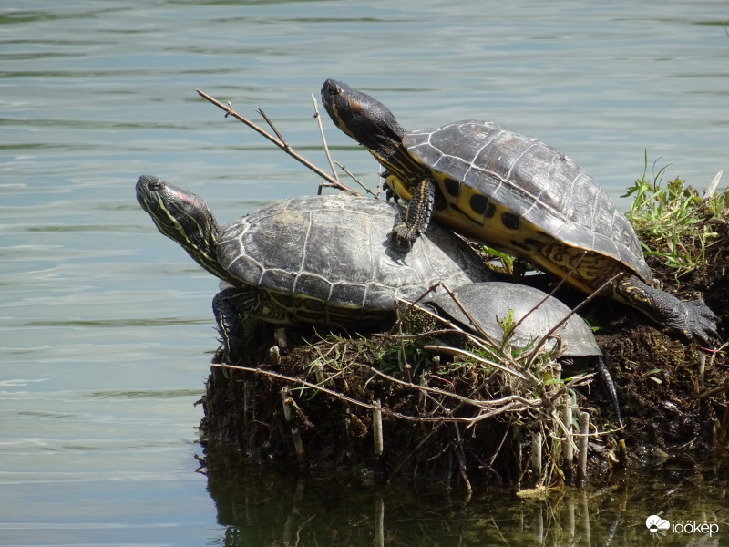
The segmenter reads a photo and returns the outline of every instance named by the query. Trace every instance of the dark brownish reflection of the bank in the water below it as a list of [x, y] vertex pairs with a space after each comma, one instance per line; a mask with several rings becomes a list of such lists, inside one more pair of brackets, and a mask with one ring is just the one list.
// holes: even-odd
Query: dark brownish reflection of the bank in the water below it
[[[465, 492], [436, 484], [385, 487], [334, 471], [248, 465], [239, 452], [225, 449], [206, 450], [205, 472], [230, 546], [629, 545], [652, 539], [645, 520], [658, 511], [669, 521], [726, 522], [723, 490], [696, 487], [714, 475], [714, 485], [724, 489], [727, 469], [719, 480], [716, 468], [692, 473], [686, 463], [662, 466], [658, 480], [632, 477], [600, 490], [552, 490], [545, 499], [489, 489], [468, 500]], [[685, 495], [688, 488], [676, 495], [678, 482], [669, 483], [681, 475], [684, 487], [693, 484], [693, 497]], [[662, 544], [707, 539], [668, 532]]]

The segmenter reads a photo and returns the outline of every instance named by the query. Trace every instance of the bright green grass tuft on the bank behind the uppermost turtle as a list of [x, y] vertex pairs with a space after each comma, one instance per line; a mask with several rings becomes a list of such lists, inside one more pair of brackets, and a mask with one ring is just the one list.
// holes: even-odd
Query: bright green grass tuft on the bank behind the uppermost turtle
[[[657, 173], [654, 171], [652, 181], [646, 180], [646, 152], [641, 179], [622, 197], [634, 197], [626, 214], [642, 241], [645, 254], [659, 257], [663, 264], [675, 269], [678, 278], [706, 262], [706, 245], [717, 234], [704, 222], [707, 201], [698, 191], [678, 177], [662, 182], [667, 168], [668, 165]], [[715, 201], [714, 209], [721, 209], [727, 199], [724, 192], [709, 201]]]

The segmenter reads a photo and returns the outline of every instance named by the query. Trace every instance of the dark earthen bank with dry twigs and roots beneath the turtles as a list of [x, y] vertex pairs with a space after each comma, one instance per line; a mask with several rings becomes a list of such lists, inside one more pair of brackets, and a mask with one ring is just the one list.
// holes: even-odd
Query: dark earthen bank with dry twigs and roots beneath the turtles
[[[704, 215], [701, 222], [716, 234], [702, 265], [676, 279], [659, 258], [648, 260], [664, 290], [686, 300], [703, 297], [724, 339], [729, 230], [721, 219]], [[562, 296], [568, 302], [583, 298]], [[298, 461], [309, 469], [345, 468], [383, 479], [554, 484], [571, 480], [577, 465], [565, 458], [560, 442], [562, 411], [542, 397], [565, 401], [556, 395], [561, 389], [574, 393], [572, 402], [590, 414], [592, 481], [610, 480], [621, 466], [679, 453], [698, 457], [726, 446], [729, 374], [723, 353], [685, 344], [612, 301], [596, 299], [584, 313], [599, 326], [597, 339], [621, 401], [621, 430], [615, 430], [600, 385], [551, 382], [560, 370], [549, 358], [530, 365], [544, 382], [541, 393], [467, 356], [427, 351], [427, 340], [289, 330], [288, 349], [276, 355], [269, 353], [272, 327], [252, 325], [256, 344], [240, 364], [247, 370], [211, 368], [202, 401], [203, 444], [240, 449], [255, 462]], [[535, 443], [539, 466], [532, 463]]]

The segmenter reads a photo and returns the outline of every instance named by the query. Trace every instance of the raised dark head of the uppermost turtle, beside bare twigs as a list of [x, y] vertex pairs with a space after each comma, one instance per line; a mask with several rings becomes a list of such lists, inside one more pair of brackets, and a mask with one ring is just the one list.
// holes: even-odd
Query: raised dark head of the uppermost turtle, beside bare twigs
[[328, 79], [322, 87], [322, 103], [334, 125], [372, 152], [386, 169], [408, 156], [403, 147], [405, 129], [377, 99]]

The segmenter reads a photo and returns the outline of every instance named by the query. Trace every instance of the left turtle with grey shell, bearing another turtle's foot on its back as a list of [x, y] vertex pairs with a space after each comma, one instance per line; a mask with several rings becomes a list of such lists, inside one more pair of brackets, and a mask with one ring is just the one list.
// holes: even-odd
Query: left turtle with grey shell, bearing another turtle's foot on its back
[[433, 284], [491, 278], [460, 237], [432, 226], [412, 249], [388, 237], [399, 208], [354, 195], [274, 201], [220, 227], [197, 195], [142, 175], [137, 201], [159, 232], [221, 279], [212, 302], [227, 362], [241, 359], [242, 318], [277, 325], [375, 325], [395, 318], [395, 297]]

